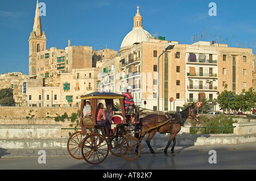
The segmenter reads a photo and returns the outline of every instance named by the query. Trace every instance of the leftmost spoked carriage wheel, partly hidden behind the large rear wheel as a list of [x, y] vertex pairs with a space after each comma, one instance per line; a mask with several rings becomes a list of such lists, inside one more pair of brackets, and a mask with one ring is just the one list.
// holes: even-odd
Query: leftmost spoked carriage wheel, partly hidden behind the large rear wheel
[[82, 140], [87, 136], [87, 134], [81, 131], [71, 134], [67, 142], [68, 153], [71, 157], [76, 159], [82, 159], [81, 145]]

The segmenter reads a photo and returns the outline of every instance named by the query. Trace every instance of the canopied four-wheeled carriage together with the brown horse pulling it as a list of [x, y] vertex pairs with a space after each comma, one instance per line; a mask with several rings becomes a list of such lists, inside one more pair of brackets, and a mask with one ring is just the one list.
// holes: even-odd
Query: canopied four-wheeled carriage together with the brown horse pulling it
[[[196, 117], [195, 108], [188, 107], [180, 112], [178, 116], [176, 114], [169, 114], [168, 116], [151, 114], [140, 120], [137, 117], [137, 123], [130, 124], [128, 121], [128, 124], [123, 99], [123, 95], [113, 92], [92, 92], [81, 96], [81, 115], [84, 115], [82, 109], [85, 101], [89, 100], [92, 117], [85, 116], [81, 124], [84, 129], [73, 133], [69, 137], [67, 148], [73, 158], [85, 159], [88, 163], [97, 164], [103, 162], [110, 152], [117, 157], [122, 156], [127, 161], [133, 161], [141, 154], [141, 140], [146, 133], [148, 133], [146, 143], [151, 153], [154, 154], [154, 150], [150, 146], [150, 140], [157, 131], [171, 133], [164, 153], [167, 153], [168, 146], [172, 140], [174, 140], [173, 152], [176, 142], [175, 136], [180, 131], [181, 122], [184, 123], [188, 116]], [[105, 124], [97, 123], [96, 121], [97, 104], [100, 101], [105, 101], [106, 105], [112, 104], [112, 108], [114, 108], [114, 100], [119, 101], [120, 115], [113, 117], [113, 129], [112, 133], [109, 133]], [[138, 133], [141, 133], [141, 135], [139, 136]]]

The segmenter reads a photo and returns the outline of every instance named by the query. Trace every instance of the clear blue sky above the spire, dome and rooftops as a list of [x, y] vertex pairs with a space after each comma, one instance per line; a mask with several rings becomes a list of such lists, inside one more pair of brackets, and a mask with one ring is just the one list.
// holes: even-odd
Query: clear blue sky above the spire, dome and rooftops
[[[154, 35], [180, 44], [193, 39], [228, 43], [229, 47], [256, 47], [255, 0], [39, 0], [46, 4], [41, 16], [47, 49], [71, 45], [119, 50], [133, 28], [137, 12], [143, 27]], [[210, 2], [217, 16], [209, 16]], [[34, 24], [36, 0], [0, 1], [0, 74], [22, 71], [28, 74], [28, 38]]]

